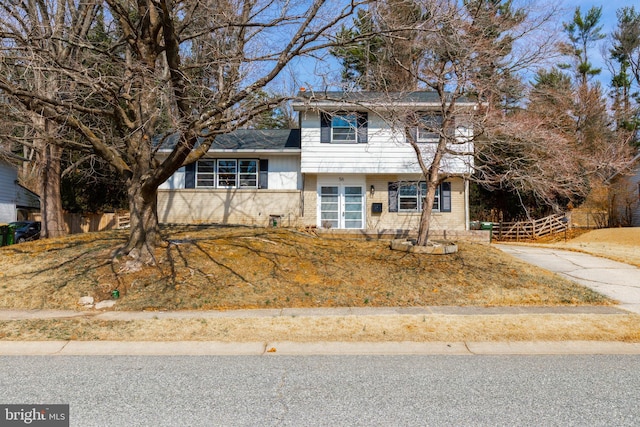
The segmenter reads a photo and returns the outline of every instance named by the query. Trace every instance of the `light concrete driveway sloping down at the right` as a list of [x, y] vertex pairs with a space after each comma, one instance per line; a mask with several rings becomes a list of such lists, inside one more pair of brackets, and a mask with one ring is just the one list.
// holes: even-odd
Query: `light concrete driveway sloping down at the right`
[[640, 314], [640, 268], [580, 252], [524, 245], [494, 245], [529, 264], [587, 286]]

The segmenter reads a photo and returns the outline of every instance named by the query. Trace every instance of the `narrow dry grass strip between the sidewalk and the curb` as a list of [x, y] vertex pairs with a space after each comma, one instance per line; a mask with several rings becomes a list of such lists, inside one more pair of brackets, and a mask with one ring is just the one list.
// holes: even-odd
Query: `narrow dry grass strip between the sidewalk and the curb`
[[25, 320], [0, 322], [0, 340], [640, 342], [640, 316], [505, 314]]

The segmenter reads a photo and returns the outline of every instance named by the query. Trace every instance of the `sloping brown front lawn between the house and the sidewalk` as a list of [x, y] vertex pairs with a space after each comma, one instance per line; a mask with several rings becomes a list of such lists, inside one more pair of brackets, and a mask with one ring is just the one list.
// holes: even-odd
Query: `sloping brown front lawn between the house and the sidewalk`
[[387, 241], [296, 230], [174, 227], [157, 266], [112, 262], [126, 231], [0, 248], [0, 308], [75, 309], [81, 296], [118, 310], [432, 305], [590, 305], [606, 298], [488, 245], [454, 255], [392, 251]]

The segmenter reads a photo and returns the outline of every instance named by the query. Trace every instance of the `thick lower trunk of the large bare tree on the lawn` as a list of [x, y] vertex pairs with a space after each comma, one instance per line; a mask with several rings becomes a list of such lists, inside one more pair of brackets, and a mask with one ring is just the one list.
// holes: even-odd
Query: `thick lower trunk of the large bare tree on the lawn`
[[124, 250], [133, 258], [154, 263], [154, 249], [162, 244], [162, 238], [158, 224], [158, 189], [148, 187], [139, 178], [131, 178], [129, 181], [131, 230]]

